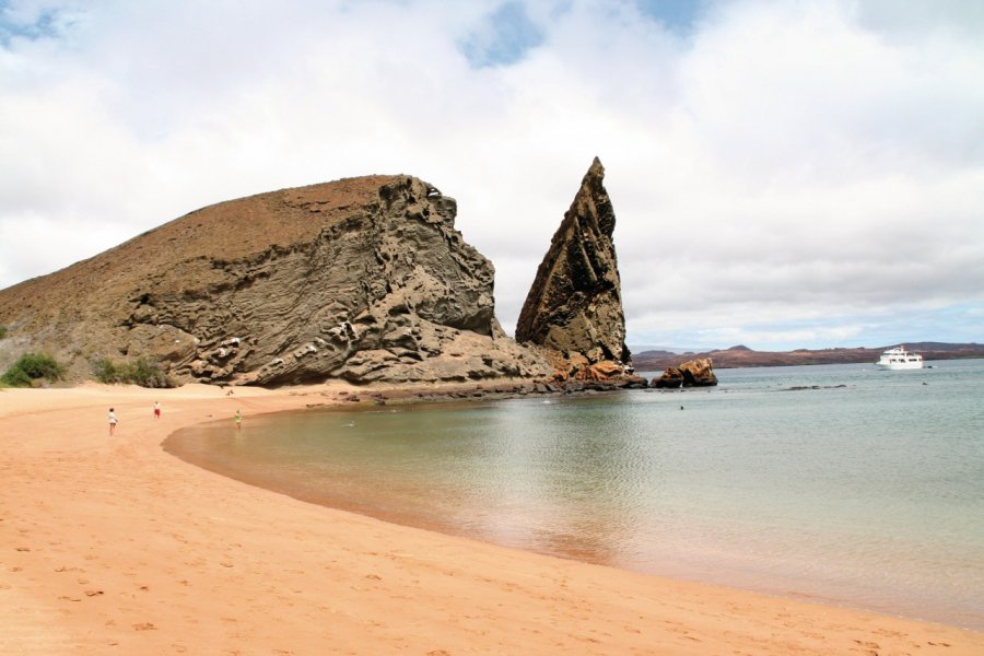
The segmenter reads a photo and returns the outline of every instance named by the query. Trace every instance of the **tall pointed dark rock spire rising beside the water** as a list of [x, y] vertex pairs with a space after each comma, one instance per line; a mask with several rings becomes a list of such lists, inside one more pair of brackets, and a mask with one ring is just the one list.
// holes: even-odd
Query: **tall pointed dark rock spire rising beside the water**
[[[516, 325], [516, 340], [588, 365], [628, 363], [625, 317], [612, 232], [614, 210], [595, 157], [553, 235]], [[582, 367], [584, 371], [584, 367]]]

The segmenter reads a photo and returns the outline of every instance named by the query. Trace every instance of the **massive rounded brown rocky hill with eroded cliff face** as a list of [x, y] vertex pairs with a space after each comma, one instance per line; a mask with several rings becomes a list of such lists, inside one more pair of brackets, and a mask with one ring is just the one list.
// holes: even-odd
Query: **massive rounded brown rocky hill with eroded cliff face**
[[78, 377], [101, 356], [180, 382], [546, 377], [500, 328], [456, 212], [409, 176], [229, 201], [0, 292], [0, 325]]

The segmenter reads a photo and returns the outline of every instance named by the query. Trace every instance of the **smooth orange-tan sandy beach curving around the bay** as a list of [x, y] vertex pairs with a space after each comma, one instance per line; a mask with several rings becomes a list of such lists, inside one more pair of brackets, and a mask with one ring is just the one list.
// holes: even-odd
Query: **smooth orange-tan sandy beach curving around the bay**
[[161, 448], [342, 388], [0, 390], [0, 653], [984, 654], [984, 633], [387, 524]]

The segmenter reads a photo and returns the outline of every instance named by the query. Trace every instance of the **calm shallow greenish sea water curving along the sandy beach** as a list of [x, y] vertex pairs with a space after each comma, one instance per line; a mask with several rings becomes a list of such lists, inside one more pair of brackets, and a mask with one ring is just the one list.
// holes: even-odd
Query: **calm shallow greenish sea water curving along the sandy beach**
[[167, 448], [405, 524], [982, 630], [984, 361], [932, 364], [311, 410], [189, 429]]

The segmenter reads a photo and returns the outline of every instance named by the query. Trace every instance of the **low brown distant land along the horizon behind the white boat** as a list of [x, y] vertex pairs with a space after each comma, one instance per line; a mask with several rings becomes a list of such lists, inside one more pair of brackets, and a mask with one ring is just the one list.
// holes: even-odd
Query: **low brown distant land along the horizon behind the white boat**
[[[878, 360], [881, 352], [893, 345], [877, 349], [797, 349], [795, 351], [752, 351], [745, 345], [700, 353], [673, 353], [670, 351], [642, 351], [632, 355], [636, 371], [654, 372], [698, 358], [710, 358], [714, 368], [741, 366], [792, 366], [797, 364], [846, 364]], [[956, 360], [984, 358], [984, 344], [951, 344], [945, 342], [905, 342], [905, 348], [919, 353], [924, 360]]]

